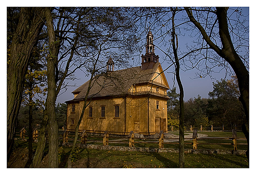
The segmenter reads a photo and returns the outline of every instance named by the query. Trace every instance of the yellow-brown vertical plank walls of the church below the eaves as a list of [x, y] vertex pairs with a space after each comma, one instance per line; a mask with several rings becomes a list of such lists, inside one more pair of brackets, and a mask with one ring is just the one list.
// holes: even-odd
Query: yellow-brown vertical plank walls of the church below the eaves
[[[167, 101], [159, 100], [159, 109], [156, 109], [157, 100], [149, 99], [149, 120], [148, 125], [148, 99], [147, 98], [127, 98], [126, 113], [125, 113], [125, 99], [106, 99], [106, 100], [92, 100], [89, 106], [93, 107], [93, 117], [89, 117], [89, 107], [86, 108], [83, 120], [79, 130], [98, 130], [109, 132], [120, 132], [128, 134], [129, 131], [137, 131], [146, 134], [148, 127], [151, 133], [159, 132], [156, 128], [156, 119], [165, 118], [167, 123]], [[67, 129], [75, 129], [77, 121], [82, 112], [84, 101], [76, 103], [75, 113], [71, 113], [71, 104], [68, 104], [68, 119]], [[115, 118], [115, 105], [119, 107], [119, 118]], [[105, 106], [105, 118], [101, 117], [101, 106]], [[71, 125], [71, 118], [74, 119], [74, 125]], [[166, 125], [167, 130], [167, 125]], [[119, 133], [119, 134], [120, 134]]]

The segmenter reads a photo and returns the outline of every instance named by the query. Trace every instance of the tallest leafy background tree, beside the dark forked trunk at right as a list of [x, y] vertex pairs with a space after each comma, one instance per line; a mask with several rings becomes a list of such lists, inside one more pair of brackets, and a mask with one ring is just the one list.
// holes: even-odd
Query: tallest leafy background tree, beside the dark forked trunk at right
[[234, 128], [241, 127], [245, 121], [243, 106], [239, 101], [240, 96], [237, 79], [221, 79], [213, 82], [213, 91], [209, 92], [208, 115], [214, 125], [225, 125]]

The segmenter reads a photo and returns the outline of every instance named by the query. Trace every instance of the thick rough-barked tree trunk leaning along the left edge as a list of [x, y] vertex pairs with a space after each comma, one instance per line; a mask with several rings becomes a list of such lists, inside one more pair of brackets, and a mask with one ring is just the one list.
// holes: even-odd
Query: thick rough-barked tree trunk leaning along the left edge
[[7, 68], [7, 160], [10, 157], [15, 124], [22, 100], [29, 58], [44, 25], [43, 8], [22, 7], [16, 34], [10, 47]]

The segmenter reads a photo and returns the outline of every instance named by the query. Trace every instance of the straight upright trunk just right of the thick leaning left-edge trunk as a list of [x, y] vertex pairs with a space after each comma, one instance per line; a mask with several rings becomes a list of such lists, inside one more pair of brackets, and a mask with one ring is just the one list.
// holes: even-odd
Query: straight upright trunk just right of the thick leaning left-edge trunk
[[58, 64], [58, 43], [55, 40], [55, 31], [51, 8], [45, 8], [46, 25], [49, 37], [49, 55], [47, 57], [47, 83], [48, 94], [46, 99], [47, 113], [49, 117], [49, 167], [58, 168], [58, 124], [55, 113], [56, 79], [55, 68]]

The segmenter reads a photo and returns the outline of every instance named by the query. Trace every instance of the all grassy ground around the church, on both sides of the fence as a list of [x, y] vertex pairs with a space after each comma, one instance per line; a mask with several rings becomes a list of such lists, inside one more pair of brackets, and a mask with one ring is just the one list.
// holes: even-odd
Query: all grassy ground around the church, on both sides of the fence
[[[198, 132], [207, 134], [209, 137], [232, 137], [232, 132]], [[186, 133], [188, 134], [188, 133]], [[237, 137], [244, 137], [242, 132], [237, 132]], [[88, 138], [89, 139], [89, 138]], [[90, 138], [94, 139], [94, 138]], [[95, 138], [97, 141], [102, 141], [102, 138]], [[128, 143], [111, 143], [110, 146], [126, 146]], [[135, 139], [136, 141], [142, 141]], [[72, 141], [69, 141], [72, 142]], [[192, 143], [192, 140], [185, 141]], [[198, 145], [198, 149], [206, 150], [233, 150], [232, 145], [214, 145], [211, 143], [232, 143], [232, 140], [199, 140], [198, 143], [208, 143], [210, 145]], [[246, 140], [239, 140], [237, 143], [246, 143]], [[98, 144], [95, 141], [88, 144]], [[135, 143], [135, 147], [158, 148], [158, 144], [142, 144]], [[33, 143], [33, 149], [36, 148], [36, 143]], [[178, 144], [164, 144], [164, 148], [178, 149]], [[185, 145], [185, 149], [192, 149], [192, 144]], [[63, 150], [59, 153], [60, 168], [67, 167], [67, 157], [71, 148], [60, 147]], [[247, 145], [238, 145], [238, 150], [247, 150]], [[21, 162], [24, 162], [24, 157], [28, 156], [28, 142], [20, 142], [15, 144], [16, 153], [12, 160], [8, 162], [8, 168], [24, 168]], [[44, 163], [41, 168], [47, 168], [48, 146], [45, 148]], [[157, 153], [157, 152], [135, 152], [135, 151], [114, 151], [114, 150], [94, 150], [94, 149], [78, 149], [75, 159], [73, 160], [73, 168], [178, 168], [179, 154], [178, 153]], [[20, 156], [20, 161], [18, 161]], [[15, 165], [16, 162], [16, 165]], [[18, 163], [19, 162], [19, 163]], [[230, 154], [185, 154], [186, 168], [249, 168], [249, 163], [246, 155], [230, 155]]]

